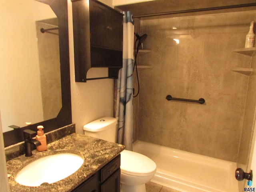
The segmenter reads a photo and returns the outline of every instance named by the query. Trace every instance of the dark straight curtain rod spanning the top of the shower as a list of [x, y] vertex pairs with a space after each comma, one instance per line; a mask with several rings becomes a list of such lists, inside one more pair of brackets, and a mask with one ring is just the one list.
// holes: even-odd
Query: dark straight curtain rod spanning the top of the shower
[[228, 5], [228, 6], [220, 6], [220, 7], [209, 7], [209, 8], [199, 8], [199, 9], [180, 10], [180, 11], [170, 11], [170, 12], [155, 13], [155, 14], [145, 14], [145, 15], [133, 16], [133, 18], [142, 18], [142, 17], [150, 17], [150, 16], [163, 16], [163, 15], [181, 14], [181, 13], [193, 13], [193, 12], [200, 12], [200, 11], [212, 11], [212, 10], [222, 10], [222, 9], [233, 9], [233, 8], [252, 7], [252, 6], [256, 6], [256, 3]]

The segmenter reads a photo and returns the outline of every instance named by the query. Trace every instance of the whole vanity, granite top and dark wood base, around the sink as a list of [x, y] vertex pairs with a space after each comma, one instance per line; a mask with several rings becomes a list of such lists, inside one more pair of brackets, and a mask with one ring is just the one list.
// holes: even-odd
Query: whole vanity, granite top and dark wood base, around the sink
[[[118, 192], [120, 191], [120, 152], [124, 148], [123, 145], [82, 134], [70, 134], [48, 144], [45, 152], [33, 150], [31, 157], [22, 155], [7, 161], [10, 192]], [[84, 158], [82, 166], [70, 176], [52, 184], [30, 187], [15, 181], [16, 173], [26, 164], [60, 150], [76, 151]], [[33, 173], [35, 177], [40, 169], [44, 167], [38, 164], [38, 168]]]

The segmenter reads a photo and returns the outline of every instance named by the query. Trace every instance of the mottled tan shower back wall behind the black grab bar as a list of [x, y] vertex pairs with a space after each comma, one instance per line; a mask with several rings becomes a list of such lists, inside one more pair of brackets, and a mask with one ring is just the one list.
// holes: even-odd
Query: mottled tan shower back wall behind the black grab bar
[[[244, 47], [254, 18], [247, 11], [141, 21], [153, 52], [140, 65], [153, 68], [139, 74], [138, 140], [236, 162], [249, 76], [232, 70], [250, 68], [252, 58], [232, 50]], [[167, 101], [168, 94], [206, 102]]]

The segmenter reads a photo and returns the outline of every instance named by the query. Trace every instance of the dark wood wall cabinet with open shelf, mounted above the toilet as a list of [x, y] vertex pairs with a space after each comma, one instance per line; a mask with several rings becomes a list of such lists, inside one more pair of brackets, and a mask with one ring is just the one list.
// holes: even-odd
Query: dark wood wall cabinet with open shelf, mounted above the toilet
[[[71, 1], [76, 82], [118, 78], [122, 68], [123, 14], [97, 0]], [[86, 79], [92, 67], [107, 67], [108, 77]]]

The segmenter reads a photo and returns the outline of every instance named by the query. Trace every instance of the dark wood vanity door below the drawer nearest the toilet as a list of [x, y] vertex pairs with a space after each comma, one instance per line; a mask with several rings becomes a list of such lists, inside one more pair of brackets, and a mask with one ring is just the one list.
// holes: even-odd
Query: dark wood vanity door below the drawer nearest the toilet
[[120, 192], [120, 169], [101, 185], [101, 192]]

